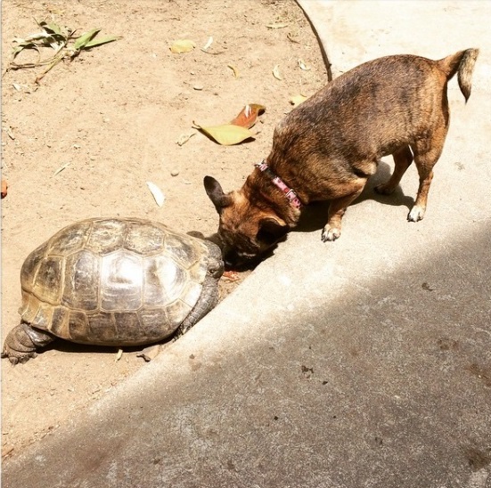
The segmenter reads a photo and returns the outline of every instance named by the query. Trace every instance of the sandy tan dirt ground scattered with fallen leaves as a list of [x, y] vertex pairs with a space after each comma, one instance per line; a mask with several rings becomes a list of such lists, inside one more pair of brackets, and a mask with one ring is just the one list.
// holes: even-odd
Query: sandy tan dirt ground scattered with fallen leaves
[[[122, 39], [60, 63], [36, 85], [43, 69], [6, 71], [12, 40], [39, 31], [35, 19]], [[176, 39], [196, 47], [171, 53]], [[203, 176], [238, 188], [266, 157], [291, 97], [327, 81], [315, 35], [291, 0], [3, 0], [2, 72], [3, 338], [19, 322], [20, 266], [30, 251], [93, 216], [215, 232]], [[248, 103], [266, 106], [252, 141], [221, 146], [192, 128], [228, 122]], [[161, 207], [147, 182], [163, 191]], [[243, 279], [222, 280], [222, 297]], [[115, 349], [55, 342], [26, 364], [1, 365], [4, 457], [70, 425], [145, 362], [135, 351], [118, 360]]]

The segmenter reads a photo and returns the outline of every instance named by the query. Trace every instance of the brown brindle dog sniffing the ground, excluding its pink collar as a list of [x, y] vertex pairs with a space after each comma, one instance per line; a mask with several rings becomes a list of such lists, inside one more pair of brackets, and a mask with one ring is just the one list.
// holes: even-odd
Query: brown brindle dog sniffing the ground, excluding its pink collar
[[[420, 185], [407, 219], [421, 220], [432, 168], [448, 131], [447, 82], [457, 73], [467, 102], [478, 54], [478, 49], [467, 49], [440, 61], [413, 55], [369, 61], [283, 118], [266, 164], [304, 205], [331, 200], [324, 241], [340, 237], [346, 207], [362, 192], [381, 157], [389, 154], [394, 173], [376, 190], [394, 191], [414, 159]], [[299, 221], [301, 209], [291, 206], [258, 168], [239, 191], [225, 194], [211, 176], [204, 184], [220, 216], [218, 234], [230, 266], [257, 258]]]

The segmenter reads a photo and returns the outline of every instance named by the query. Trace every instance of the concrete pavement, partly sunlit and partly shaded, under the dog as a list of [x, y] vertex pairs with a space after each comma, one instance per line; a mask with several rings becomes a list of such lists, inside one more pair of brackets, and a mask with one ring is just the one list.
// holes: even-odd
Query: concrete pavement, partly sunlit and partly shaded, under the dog
[[489, 2], [299, 2], [340, 72], [481, 53], [456, 81], [429, 209], [384, 159], [323, 244], [325, 208], [78, 422], [7, 460], [16, 487], [491, 487]]

